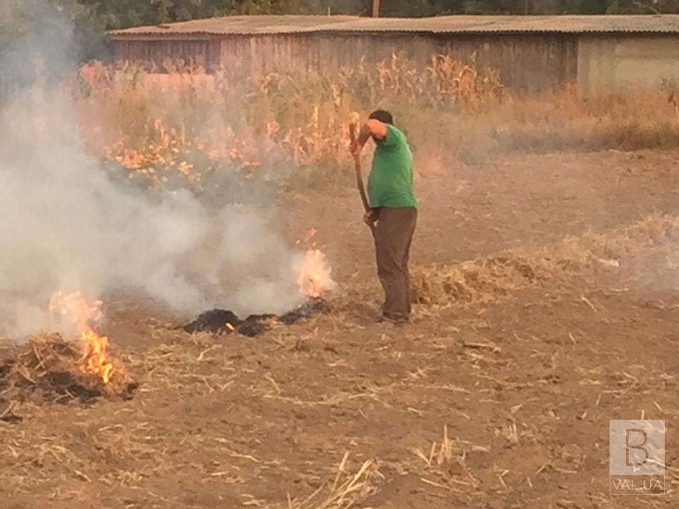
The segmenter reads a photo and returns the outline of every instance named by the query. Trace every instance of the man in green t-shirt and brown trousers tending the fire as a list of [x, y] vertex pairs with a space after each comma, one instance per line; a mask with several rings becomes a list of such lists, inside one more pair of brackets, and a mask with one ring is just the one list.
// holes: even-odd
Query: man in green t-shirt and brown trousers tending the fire
[[[360, 157], [368, 139], [376, 144], [368, 177], [370, 210], [364, 221], [374, 227], [377, 272], [384, 288], [383, 320], [410, 318], [410, 243], [417, 223], [413, 189], [412, 152], [405, 134], [394, 126], [392, 115], [373, 112], [361, 129], [354, 157]], [[375, 224], [376, 223], [376, 224]]]

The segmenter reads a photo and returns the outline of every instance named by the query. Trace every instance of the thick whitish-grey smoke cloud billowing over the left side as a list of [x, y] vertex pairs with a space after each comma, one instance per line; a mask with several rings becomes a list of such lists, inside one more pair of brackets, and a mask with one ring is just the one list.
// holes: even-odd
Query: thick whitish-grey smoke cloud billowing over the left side
[[[72, 68], [72, 30], [59, 11], [17, 0], [2, 12], [32, 28], [1, 69], [46, 59], [44, 76]], [[140, 288], [185, 313], [216, 304], [283, 312], [303, 300], [302, 255], [262, 214], [214, 213], [189, 192], [150, 195], [113, 182], [83, 151], [69, 96], [40, 80], [0, 110], [0, 217], [0, 334], [53, 327], [47, 305], [59, 290], [100, 298]]]

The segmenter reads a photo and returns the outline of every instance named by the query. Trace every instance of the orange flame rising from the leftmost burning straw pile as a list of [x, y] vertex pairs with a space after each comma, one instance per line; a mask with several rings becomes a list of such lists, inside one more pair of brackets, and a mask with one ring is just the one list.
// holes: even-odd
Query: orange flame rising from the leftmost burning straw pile
[[98, 375], [104, 384], [108, 384], [114, 372], [113, 364], [108, 357], [108, 337], [102, 336], [92, 328], [92, 324], [101, 318], [101, 304], [100, 300], [88, 303], [79, 291], [68, 296], [57, 292], [50, 300], [50, 312], [73, 320], [83, 341], [81, 370]]

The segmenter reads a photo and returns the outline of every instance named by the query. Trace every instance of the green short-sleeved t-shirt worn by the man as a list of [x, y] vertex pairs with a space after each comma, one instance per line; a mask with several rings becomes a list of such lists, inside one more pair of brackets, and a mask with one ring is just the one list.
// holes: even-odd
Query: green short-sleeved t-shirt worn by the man
[[368, 177], [370, 206], [417, 207], [413, 189], [412, 152], [399, 129], [387, 125], [387, 137], [379, 141]]

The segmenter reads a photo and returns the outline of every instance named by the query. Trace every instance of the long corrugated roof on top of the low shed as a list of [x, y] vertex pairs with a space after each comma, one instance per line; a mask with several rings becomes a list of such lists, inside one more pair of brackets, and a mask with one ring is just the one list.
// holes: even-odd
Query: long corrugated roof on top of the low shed
[[319, 32], [417, 33], [676, 33], [679, 15], [662, 16], [230, 16], [113, 30], [112, 38], [156, 35], [254, 35]]

